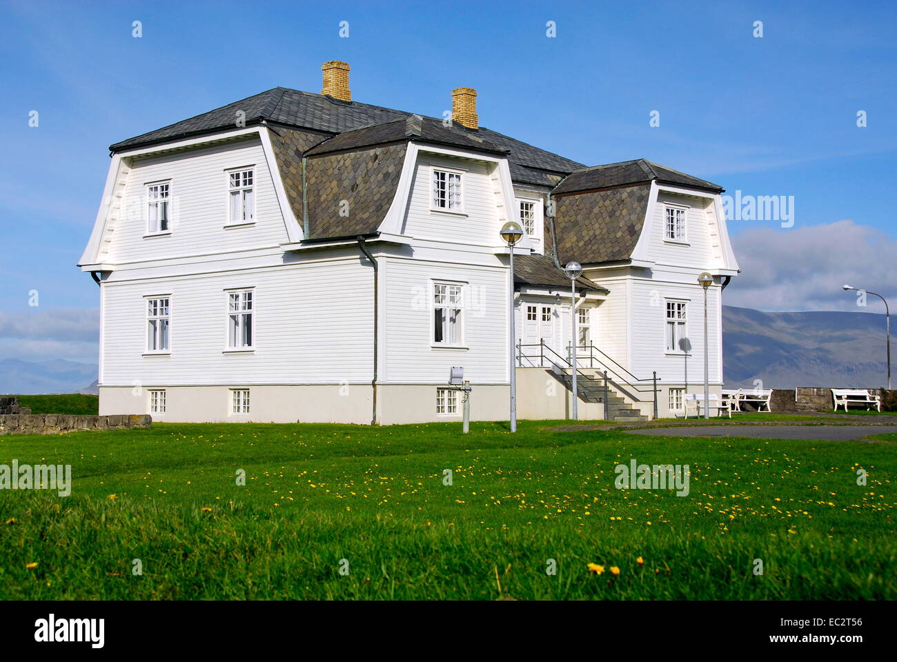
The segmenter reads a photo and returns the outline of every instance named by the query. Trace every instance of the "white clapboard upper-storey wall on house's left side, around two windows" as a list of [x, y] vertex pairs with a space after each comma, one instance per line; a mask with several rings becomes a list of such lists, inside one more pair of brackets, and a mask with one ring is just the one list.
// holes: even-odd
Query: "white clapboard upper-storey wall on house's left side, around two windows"
[[[224, 229], [228, 218], [226, 170], [255, 167], [255, 223]], [[145, 237], [146, 184], [170, 181], [171, 233]], [[135, 159], [127, 175], [124, 211], [111, 233], [111, 261], [138, 260], [274, 246], [287, 240], [274, 183], [257, 137]]]

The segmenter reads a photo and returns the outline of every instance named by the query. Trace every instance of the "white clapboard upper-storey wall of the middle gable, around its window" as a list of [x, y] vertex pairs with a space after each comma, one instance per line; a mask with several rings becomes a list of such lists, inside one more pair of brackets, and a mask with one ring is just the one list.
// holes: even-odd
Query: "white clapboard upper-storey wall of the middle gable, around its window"
[[[447, 167], [462, 174], [463, 213], [431, 210], [431, 169]], [[498, 239], [498, 205], [490, 171], [492, 164], [421, 152], [414, 170], [402, 232], [420, 239], [446, 240], [495, 246]]]

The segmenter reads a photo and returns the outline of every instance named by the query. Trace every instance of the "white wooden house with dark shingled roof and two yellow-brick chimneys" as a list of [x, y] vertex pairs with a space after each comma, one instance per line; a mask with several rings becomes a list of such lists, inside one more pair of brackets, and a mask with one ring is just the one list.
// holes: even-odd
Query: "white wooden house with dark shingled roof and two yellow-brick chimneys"
[[[478, 126], [275, 88], [113, 144], [79, 266], [100, 285], [100, 414], [159, 421], [569, 415], [578, 260], [580, 418], [675, 414], [722, 383], [721, 292], [737, 273], [715, 184], [650, 163], [586, 168]], [[509, 248], [515, 365], [509, 365]], [[605, 391], [605, 370], [607, 371]], [[687, 379], [686, 379], [687, 371]], [[605, 401], [607, 412], [605, 413]]]

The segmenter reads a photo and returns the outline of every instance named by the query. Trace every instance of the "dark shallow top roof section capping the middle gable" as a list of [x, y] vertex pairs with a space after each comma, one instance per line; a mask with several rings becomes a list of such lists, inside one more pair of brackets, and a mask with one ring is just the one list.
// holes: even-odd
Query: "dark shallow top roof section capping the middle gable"
[[479, 135], [471, 135], [469, 132], [459, 131], [454, 126], [444, 126], [438, 119], [409, 115], [407, 118], [396, 119], [384, 124], [363, 126], [353, 131], [344, 131], [344, 133], [337, 134], [309, 150], [307, 156], [411, 139], [502, 155], [509, 152], [507, 148], [491, 143], [488, 140], [483, 140]]

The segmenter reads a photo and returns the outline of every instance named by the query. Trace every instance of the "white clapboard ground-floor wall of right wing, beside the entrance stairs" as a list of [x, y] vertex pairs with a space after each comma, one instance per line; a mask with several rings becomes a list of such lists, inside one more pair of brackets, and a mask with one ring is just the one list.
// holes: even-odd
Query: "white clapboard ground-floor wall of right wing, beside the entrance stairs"
[[[695, 276], [696, 277], [696, 276]], [[686, 363], [682, 353], [666, 353], [666, 300], [688, 301], [686, 337], [692, 343], [687, 370], [690, 384], [704, 379], [704, 303], [697, 283], [666, 283], [633, 279], [631, 282], [631, 368], [640, 378], [658, 371], [663, 382], [682, 383]], [[710, 381], [719, 379], [719, 288], [708, 291], [708, 337], [710, 339]]]

